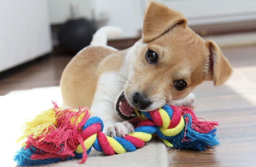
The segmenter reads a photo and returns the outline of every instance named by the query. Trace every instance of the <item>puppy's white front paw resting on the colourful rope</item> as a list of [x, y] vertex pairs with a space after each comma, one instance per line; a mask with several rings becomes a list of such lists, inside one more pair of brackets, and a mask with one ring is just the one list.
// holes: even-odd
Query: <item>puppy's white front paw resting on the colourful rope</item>
[[118, 122], [107, 127], [105, 135], [112, 137], [125, 137], [125, 135], [134, 132], [134, 128], [131, 123], [124, 121]]

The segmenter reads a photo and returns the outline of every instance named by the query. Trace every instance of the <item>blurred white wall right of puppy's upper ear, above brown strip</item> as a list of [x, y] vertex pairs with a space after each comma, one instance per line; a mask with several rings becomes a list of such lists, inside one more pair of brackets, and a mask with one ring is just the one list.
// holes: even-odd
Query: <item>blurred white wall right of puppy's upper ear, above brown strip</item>
[[189, 25], [256, 20], [256, 0], [158, 0], [182, 12]]

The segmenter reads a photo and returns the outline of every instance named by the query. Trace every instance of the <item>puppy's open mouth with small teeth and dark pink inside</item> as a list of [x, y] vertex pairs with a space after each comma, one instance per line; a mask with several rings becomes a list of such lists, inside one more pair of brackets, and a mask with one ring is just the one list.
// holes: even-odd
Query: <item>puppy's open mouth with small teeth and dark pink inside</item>
[[135, 115], [135, 108], [133, 108], [126, 100], [124, 93], [121, 94], [116, 103], [116, 111], [121, 119], [130, 120], [133, 119]]

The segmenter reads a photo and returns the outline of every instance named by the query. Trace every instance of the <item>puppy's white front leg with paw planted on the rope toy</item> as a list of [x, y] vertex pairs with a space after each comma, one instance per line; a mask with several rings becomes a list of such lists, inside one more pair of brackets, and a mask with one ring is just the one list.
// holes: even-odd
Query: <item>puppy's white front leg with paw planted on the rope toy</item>
[[131, 123], [123, 121], [116, 113], [114, 103], [115, 95], [121, 82], [113, 73], [105, 73], [99, 77], [97, 90], [90, 108], [93, 116], [102, 119], [103, 133], [108, 136], [125, 136], [134, 131]]

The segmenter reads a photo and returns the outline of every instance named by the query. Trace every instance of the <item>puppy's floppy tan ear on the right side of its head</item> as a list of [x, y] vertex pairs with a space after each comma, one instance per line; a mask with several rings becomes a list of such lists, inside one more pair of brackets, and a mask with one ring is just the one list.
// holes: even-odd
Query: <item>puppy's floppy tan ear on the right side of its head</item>
[[226, 57], [223, 56], [221, 49], [213, 41], [206, 41], [209, 49], [209, 71], [207, 80], [213, 80], [215, 86], [226, 81], [232, 73], [232, 67]]

